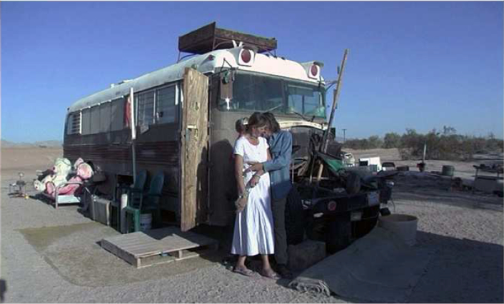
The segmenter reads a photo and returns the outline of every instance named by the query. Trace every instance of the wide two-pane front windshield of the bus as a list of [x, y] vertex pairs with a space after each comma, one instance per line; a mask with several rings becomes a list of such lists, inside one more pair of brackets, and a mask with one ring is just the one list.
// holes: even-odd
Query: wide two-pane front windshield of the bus
[[260, 111], [326, 118], [323, 86], [237, 71], [233, 81], [233, 99], [219, 100], [222, 111]]

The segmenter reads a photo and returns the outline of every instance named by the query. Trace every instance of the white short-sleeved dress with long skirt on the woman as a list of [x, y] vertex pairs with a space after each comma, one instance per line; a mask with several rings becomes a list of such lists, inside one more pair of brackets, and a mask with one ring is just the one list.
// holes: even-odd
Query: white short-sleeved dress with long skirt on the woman
[[[234, 153], [243, 156], [244, 169], [249, 167], [247, 161], [262, 163], [268, 160], [268, 143], [265, 138], [258, 139], [257, 146], [251, 144], [243, 136], [236, 140]], [[254, 172], [246, 174], [245, 185], [251, 180], [253, 174]], [[259, 183], [251, 188], [245, 209], [236, 214], [231, 253], [266, 255], [273, 254], [274, 247], [270, 176], [269, 173], [264, 173]]]

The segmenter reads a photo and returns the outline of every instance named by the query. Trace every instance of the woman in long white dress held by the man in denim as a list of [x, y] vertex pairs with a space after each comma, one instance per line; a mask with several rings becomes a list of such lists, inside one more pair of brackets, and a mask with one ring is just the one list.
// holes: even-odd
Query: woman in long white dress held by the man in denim
[[[233, 244], [231, 253], [239, 255], [233, 271], [243, 275], [254, 275], [245, 265], [247, 256], [261, 255], [263, 268], [261, 275], [278, 279], [268, 260], [274, 253], [273, 213], [271, 213], [270, 178], [268, 173], [249, 172], [247, 162], [264, 162], [271, 159], [268, 143], [261, 137], [266, 128], [266, 119], [261, 113], [253, 113], [248, 118], [243, 136], [238, 138], [234, 147], [235, 174], [238, 183], [238, 195], [248, 197], [243, 210], [236, 213]], [[250, 187], [248, 196], [246, 187]]]

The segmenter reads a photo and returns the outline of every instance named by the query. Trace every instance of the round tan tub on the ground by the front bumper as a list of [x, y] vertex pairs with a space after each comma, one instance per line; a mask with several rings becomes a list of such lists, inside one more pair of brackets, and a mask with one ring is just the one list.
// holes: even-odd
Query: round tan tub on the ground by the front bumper
[[406, 245], [413, 246], [416, 243], [416, 229], [418, 218], [408, 214], [390, 214], [378, 219], [378, 226], [389, 230], [398, 236]]

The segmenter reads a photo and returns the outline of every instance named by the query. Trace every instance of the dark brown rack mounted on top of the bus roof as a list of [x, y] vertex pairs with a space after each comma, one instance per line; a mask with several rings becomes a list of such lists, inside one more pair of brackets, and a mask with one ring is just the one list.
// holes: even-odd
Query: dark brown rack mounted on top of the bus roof
[[216, 22], [178, 37], [178, 51], [192, 54], [206, 54], [217, 49], [232, 49], [240, 42], [244, 46], [257, 49], [258, 53], [276, 50], [276, 39], [244, 34], [228, 29], [219, 29]]

